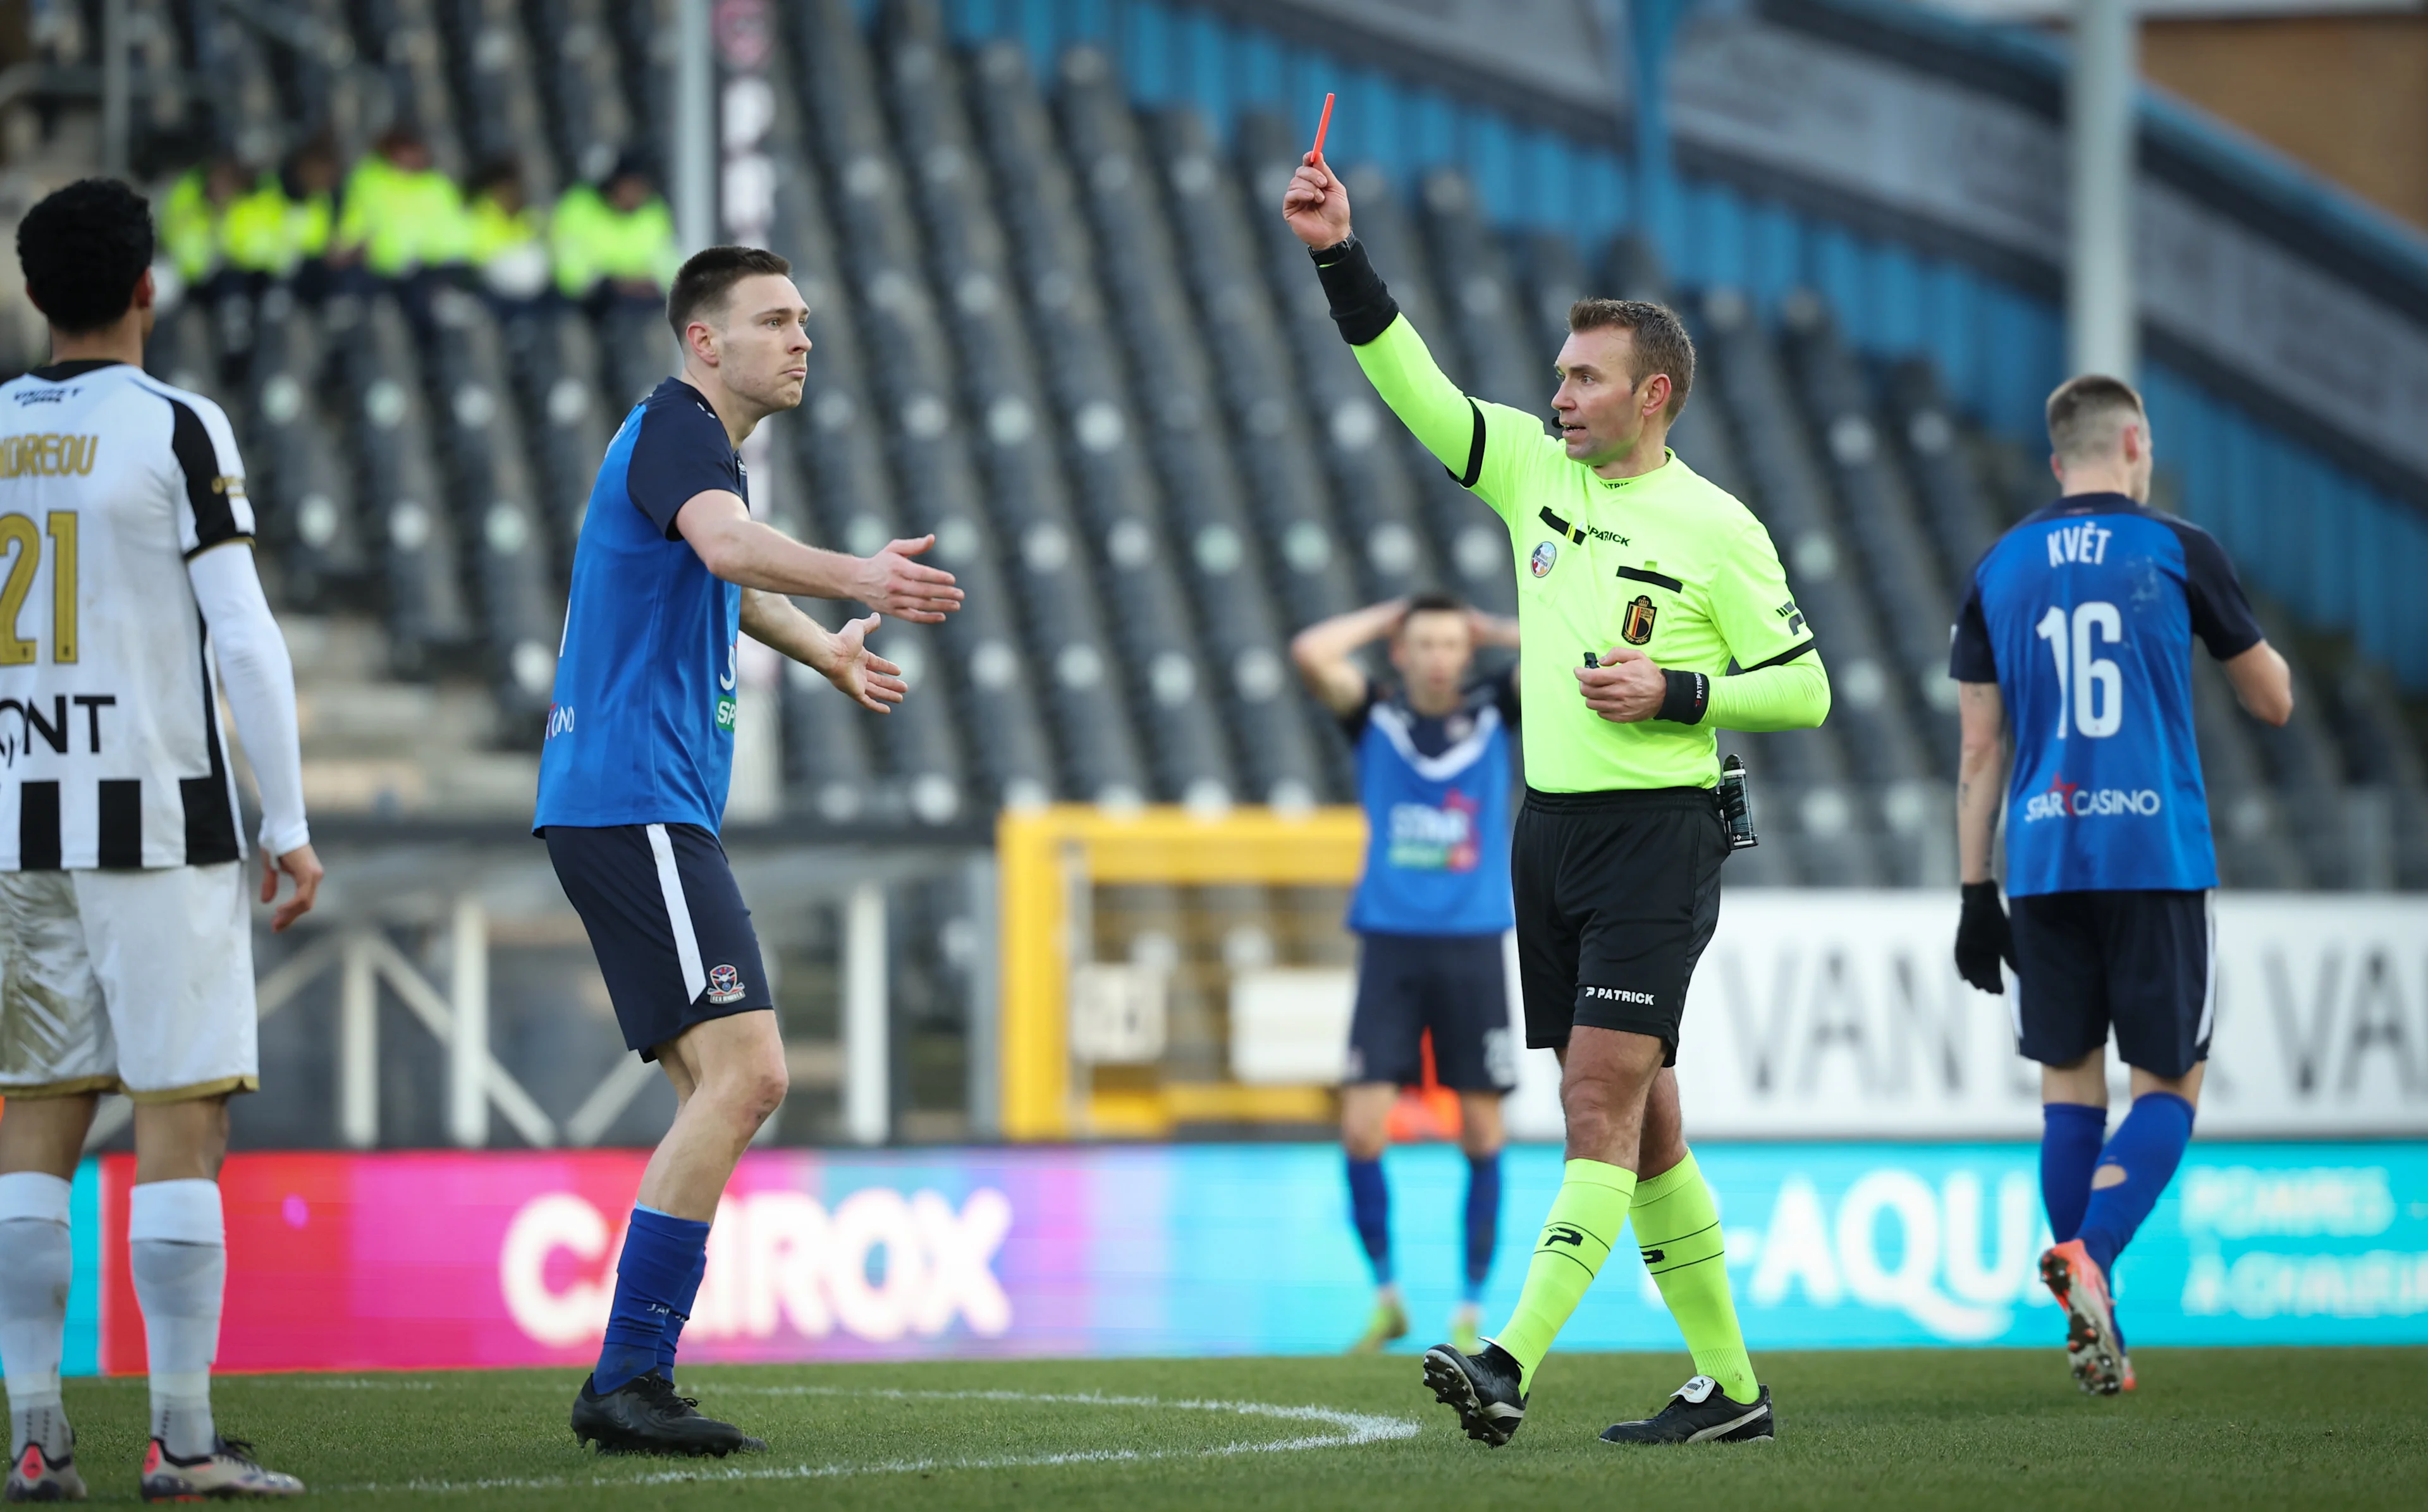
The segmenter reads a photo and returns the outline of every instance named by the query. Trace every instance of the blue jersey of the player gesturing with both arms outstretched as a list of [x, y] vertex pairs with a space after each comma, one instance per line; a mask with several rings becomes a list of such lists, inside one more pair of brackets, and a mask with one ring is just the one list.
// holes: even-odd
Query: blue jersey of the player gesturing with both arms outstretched
[[709, 400], [668, 379], [624, 415], [590, 488], [534, 828], [716, 832], [733, 777], [743, 590], [675, 532], [675, 512], [716, 488], [750, 498], [743, 459]]

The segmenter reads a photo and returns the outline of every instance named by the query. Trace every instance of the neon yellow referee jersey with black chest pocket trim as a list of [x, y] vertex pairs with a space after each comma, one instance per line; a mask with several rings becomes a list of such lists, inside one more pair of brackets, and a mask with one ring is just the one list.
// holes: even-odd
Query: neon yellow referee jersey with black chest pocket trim
[[[1406, 316], [1357, 352], [1374, 391], [1442, 466], [1491, 505], [1518, 558], [1520, 697], [1525, 779], [1549, 794], [1714, 786], [1714, 726], [1809, 728], [1821, 706], [1780, 718], [1726, 709], [1724, 672], [1814, 658], [1814, 629], [1787, 590], [1770, 532], [1746, 505], [1675, 451], [1641, 478], [1602, 478], [1568, 461], [1542, 420], [1459, 393]], [[1476, 459], [1476, 430], [1484, 432]], [[1474, 464], [1474, 476], [1467, 468]], [[1712, 709], [1702, 723], [1612, 723], [1585, 706], [1573, 667], [1588, 650], [1634, 646], [1663, 670], [1707, 672]], [[1731, 718], [1714, 718], [1721, 714]]]

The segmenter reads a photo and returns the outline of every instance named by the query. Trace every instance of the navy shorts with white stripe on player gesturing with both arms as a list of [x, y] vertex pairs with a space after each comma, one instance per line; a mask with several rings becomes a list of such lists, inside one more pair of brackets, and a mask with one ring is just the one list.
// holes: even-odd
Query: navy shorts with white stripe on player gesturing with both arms
[[549, 825], [546, 842], [590, 932], [624, 1044], [643, 1061], [692, 1024], [775, 1007], [716, 835], [699, 825]]

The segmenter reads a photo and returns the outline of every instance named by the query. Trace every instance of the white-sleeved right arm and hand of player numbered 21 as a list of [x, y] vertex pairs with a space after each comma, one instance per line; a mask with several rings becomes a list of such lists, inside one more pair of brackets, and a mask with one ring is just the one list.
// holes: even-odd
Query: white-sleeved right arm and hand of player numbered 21
[[219, 682], [236, 716], [236, 738], [245, 743], [253, 781], [262, 791], [262, 903], [277, 898], [279, 871], [296, 891], [272, 915], [272, 930], [287, 930], [320, 893], [320, 859], [304, 820], [304, 748], [296, 733], [296, 677], [287, 638], [262, 597], [262, 578], [253, 568], [250, 541], [223, 541], [185, 563], [187, 582], [211, 648], [219, 650]]

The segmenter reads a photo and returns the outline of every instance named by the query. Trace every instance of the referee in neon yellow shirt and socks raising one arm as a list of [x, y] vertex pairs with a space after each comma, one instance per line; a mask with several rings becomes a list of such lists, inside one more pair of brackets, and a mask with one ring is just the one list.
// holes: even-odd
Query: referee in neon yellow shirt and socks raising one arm
[[[1527, 796], [1510, 883], [1530, 1046], [1561, 1061], [1568, 1165], [1498, 1340], [1425, 1352], [1467, 1437], [1508, 1444], [1534, 1371], [1619, 1228], [1678, 1318], [1695, 1376], [1612, 1444], [1772, 1437], [1729, 1298], [1719, 1209], [1678, 1116], [1678, 1019], [1719, 925], [1726, 825], [1714, 726], [1828, 714], [1814, 631], [1763, 524], [1666, 447], [1695, 345], [1658, 303], [1581, 299], [1559, 352], [1559, 439], [1442, 376], [1350, 233], [1314, 153], [1282, 197], [1374, 391], [1510, 529]], [[1726, 675], [1729, 665], [1741, 667]]]

